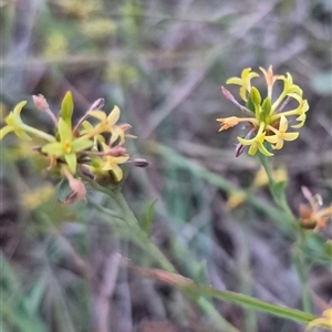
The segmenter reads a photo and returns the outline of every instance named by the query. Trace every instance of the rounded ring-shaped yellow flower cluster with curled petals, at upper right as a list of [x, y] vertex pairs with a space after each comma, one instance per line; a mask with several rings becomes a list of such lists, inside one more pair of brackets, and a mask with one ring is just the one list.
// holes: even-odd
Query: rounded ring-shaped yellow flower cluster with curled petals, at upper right
[[[231, 77], [226, 83], [240, 86], [239, 95], [245, 102], [241, 105], [234, 95], [224, 86], [221, 91], [226, 98], [237, 105], [247, 116], [230, 116], [217, 118], [221, 123], [220, 129], [226, 131], [239, 123], [246, 123], [249, 128], [245, 138], [238, 137], [237, 156], [243, 151], [243, 146], [249, 146], [249, 155], [255, 155], [258, 151], [266, 156], [272, 156], [269, 146], [272, 149], [281, 149], [284, 141], [294, 141], [299, 137], [298, 132], [289, 132], [290, 116], [295, 116], [295, 124], [292, 128], [300, 128], [305, 122], [305, 113], [309, 110], [307, 100], [302, 98], [302, 90], [293, 83], [291, 74], [273, 75], [272, 66], [268, 70], [260, 68], [266, 83], [267, 96], [262, 100], [260, 92], [251, 85], [251, 80], [259, 74], [251, 72], [251, 69], [245, 69], [241, 77]], [[272, 101], [273, 85], [277, 81], [283, 82], [283, 90], [280, 95]], [[294, 100], [297, 107], [286, 111], [288, 103]]]

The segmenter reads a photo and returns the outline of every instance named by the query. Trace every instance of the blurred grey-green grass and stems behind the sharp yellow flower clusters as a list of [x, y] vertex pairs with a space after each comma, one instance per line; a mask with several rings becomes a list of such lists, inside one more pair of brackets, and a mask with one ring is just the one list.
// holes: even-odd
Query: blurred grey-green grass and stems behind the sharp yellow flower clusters
[[[128, 169], [124, 195], [139, 220], [156, 201], [151, 238], [178, 271], [291, 308], [307, 292], [321, 312], [331, 234], [294, 249], [258, 160], [235, 158], [240, 128], [220, 134], [216, 117], [238, 112], [220, 86], [243, 68], [291, 72], [310, 111], [273, 164], [287, 168], [294, 214], [301, 186], [332, 200], [331, 0], [2, 0], [0, 10], [1, 117], [28, 100], [24, 120], [51, 129], [31, 95], [58, 112], [68, 90], [76, 117], [98, 97], [106, 112], [118, 105], [138, 136], [129, 153], [152, 162]], [[31, 147], [1, 142], [1, 331], [303, 331], [221, 301], [235, 330], [214, 326], [195, 301], [123, 268], [117, 253], [154, 264], [92, 206], [61, 205]]]

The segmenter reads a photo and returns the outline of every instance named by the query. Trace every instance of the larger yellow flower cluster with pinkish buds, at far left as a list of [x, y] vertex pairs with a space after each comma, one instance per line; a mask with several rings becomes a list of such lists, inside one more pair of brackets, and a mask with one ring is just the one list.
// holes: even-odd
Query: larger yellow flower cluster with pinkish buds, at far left
[[45, 143], [37, 149], [49, 159], [49, 168], [58, 169], [68, 179], [73, 191], [69, 201], [83, 198], [85, 195], [83, 184], [75, 178], [77, 170], [94, 178], [112, 175], [113, 180], [117, 183], [123, 178], [120, 165], [124, 163], [135, 165], [135, 160], [129, 160], [129, 155], [123, 146], [125, 137], [135, 136], [126, 134], [131, 125], [117, 124], [121, 114], [117, 106], [106, 115], [101, 111], [104, 101], [100, 98], [72, 127], [74, 105], [71, 92], [65, 94], [58, 117], [42, 95], [33, 96], [33, 102], [38, 110], [50, 115], [54, 124], [54, 135], [22, 121], [21, 111], [27, 104], [24, 101], [4, 118], [6, 125], [0, 129], [0, 141], [11, 132], [23, 139], [31, 139], [33, 136], [42, 138]]

